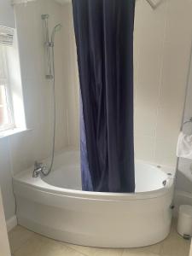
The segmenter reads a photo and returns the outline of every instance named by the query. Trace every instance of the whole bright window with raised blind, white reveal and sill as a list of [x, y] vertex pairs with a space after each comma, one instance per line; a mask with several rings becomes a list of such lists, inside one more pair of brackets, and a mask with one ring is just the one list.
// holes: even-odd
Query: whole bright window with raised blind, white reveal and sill
[[15, 29], [0, 26], [0, 137], [26, 131]]

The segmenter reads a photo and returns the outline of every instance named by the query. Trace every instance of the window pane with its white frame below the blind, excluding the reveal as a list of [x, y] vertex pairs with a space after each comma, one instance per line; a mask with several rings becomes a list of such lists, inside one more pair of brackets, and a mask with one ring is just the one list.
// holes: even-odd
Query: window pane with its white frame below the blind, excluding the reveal
[[7, 47], [0, 44], [0, 132], [15, 128], [6, 60]]

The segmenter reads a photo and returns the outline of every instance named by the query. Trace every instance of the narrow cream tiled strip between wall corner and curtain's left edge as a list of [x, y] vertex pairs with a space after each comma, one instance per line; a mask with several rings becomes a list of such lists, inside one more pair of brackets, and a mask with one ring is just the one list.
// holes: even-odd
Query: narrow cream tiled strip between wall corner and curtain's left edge
[[62, 7], [62, 26], [64, 36], [64, 72], [67, 95], [68, 144], [79, 146], [79, 73], [76, 44], [73, 29], [72, 4]]

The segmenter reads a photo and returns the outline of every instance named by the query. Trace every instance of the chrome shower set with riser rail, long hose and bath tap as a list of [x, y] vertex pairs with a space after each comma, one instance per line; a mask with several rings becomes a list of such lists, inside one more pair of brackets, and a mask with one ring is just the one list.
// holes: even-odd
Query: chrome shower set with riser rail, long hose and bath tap
[[57, 24], [52, 32], [49, 41], [49, 26], [48, 19], [49, 15], [41, 15], [42, 20], [44, 20], [44, 30], [45, 30], [45, 48], [47, 53], [47, 67], [48, 74], [45, 76], [46, 79], [51, 79], [53, 82], [52, 93], [53, 93], [53, 111], [54, 111], [54, 120], [53, 120], [53, 143], [52, 143], [52, 151], [51, 151], [51, 160], [50, 165], [44, 166], [43, 163], [39, 163], [38, 161], [34, 164], [34, 169], [32, 172], [32, 177], [38, 177], [39, 174], [43, 174], [44, 176], [49, 175], [52, 170], [54, 157], [55, 157], [55, 52], [54, 52], [54, 44], [55, 44], [55, 32], [61, 30], [61, 24]]

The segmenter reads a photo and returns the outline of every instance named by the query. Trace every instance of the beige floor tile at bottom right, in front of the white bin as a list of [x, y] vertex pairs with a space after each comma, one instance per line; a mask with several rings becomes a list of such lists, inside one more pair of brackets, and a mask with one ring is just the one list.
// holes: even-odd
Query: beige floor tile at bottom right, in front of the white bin
[[190, 241], [184, 240], [177, 234], [177, 222], [174, 220], [170, 235], [162, 242], [160, 255], [162, 256], [189, 256]]

